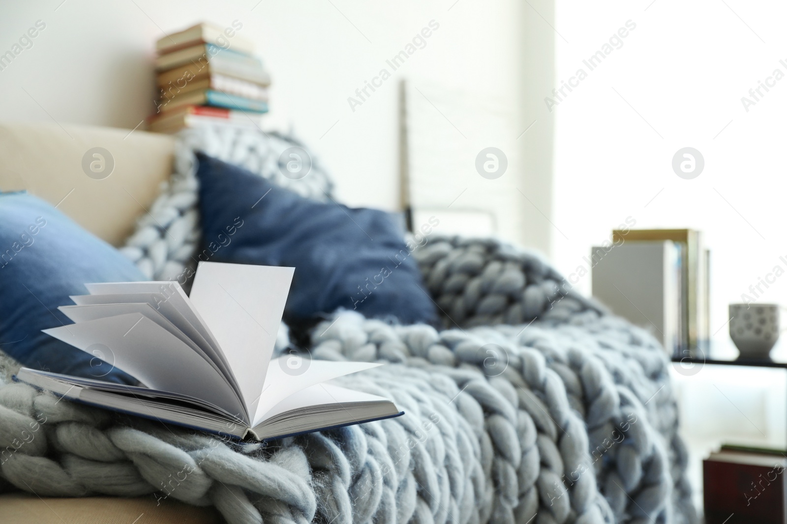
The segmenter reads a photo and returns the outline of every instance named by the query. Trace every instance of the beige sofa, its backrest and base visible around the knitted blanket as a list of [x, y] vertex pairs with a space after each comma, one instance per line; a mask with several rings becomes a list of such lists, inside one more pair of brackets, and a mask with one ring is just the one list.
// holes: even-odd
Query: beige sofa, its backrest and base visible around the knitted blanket
[[[135, 219], [146, 213], [172, 173], [169, 135], [57, 123], [0, 123], [0, 190], [27, 189], [95, 235], [120, 246]], [[88, 176], [83, 157], [91, 148], [109, 152], [114, 167]], [[95, 157], [88, 155], [88, 165]], [[109, 166], [104, 158], [103, 167]], [[100, 168], [102, 166], [97, 165]], [[89, 170], [89, 169], [88, 169]], [[0, 522], [24, 524], [153, 524], [222, 522], [212, 508], [155, 497], [50, 499], [35, 494], [0, 496]]]

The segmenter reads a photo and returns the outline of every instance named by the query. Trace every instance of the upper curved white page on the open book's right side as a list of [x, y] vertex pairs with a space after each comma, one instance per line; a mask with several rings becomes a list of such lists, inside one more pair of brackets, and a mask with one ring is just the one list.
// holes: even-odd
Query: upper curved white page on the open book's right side
[[374, 362], [301, 361], [301, 365], [308, 365], [309, 367], [306, 368], [305, 372], [295, 375], [288, 368], [288, 359], [292, 358], [296, 357], [284, 355], [272, 360], [271, 365], [268, 366], [268, 373], [265, 376], [265, 387], [260, 395], [260, 404], [257, 406], [257, 412], [252, 418], [252, 426], [257, 425], [260, 420], [271, 416], [270, 411], [275, 405], [278, 405], [279, 402], [300, 390], [305, 390], [340, 376], [382, 365]]

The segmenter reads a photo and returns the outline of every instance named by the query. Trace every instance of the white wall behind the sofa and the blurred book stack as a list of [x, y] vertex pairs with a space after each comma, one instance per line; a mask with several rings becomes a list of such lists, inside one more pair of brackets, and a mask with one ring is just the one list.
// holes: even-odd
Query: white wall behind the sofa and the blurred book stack
[[[157, 38], [199, 20], [222, 26], [239, 20], [238, 34], [256, 43], [272, 73], [268, 126], [294, 128], [337, 178], [340, 200], [389, 210], [400, 203], [397, 78], [384, 82], [354, 112], [347, 101], [385, 67], [386, 59], [435, 20], [440, 27], [427, 46], [395, 75], [499, 97], [517, 119], [523, 82], [533, 81], [522, 74], [522, 64], [552, 63], [551, 53], [544, 53], [551, 33], [543, 35], [549, 42], [539, 49], [523, 46], [527, 25], [544, 24], [514, 0], [61, 2], [0, 7], [0, 53], [36, 20], [46, 24], [33, 46], [0, 71], [2, 119], [133, 128], [153, 112]], [[533, 3], [549, 13], [550, 2]], [[533, 131], [528, 134], [535, 138]], [[551, 143], [551, 129], [540, 132], [539, 139]], [[528, 139], [515, 147], [530, 147]], [[538, 173], [526, 177], [520, 170], [511, 176], [523, 178], [523, 187], [533, 185], [530, 195], [544, 200], [549, 210], [551, 147], [544, 151], [542, 159], [536, 155]], [[546, 222], [540, 215], [538, 221], [511, 240], [547, 251]]]

